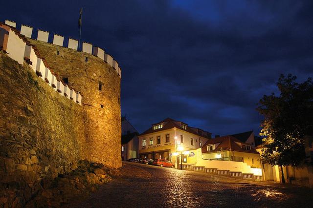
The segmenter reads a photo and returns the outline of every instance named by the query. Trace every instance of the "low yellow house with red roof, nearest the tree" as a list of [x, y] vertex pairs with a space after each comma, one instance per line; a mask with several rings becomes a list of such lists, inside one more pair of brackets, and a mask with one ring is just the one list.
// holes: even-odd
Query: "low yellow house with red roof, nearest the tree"
[[203, 159], [244, 162], [252, 168], [261, 168], [260, 154], [252, 144], [232, 135], [208, 140], [201, 151]]

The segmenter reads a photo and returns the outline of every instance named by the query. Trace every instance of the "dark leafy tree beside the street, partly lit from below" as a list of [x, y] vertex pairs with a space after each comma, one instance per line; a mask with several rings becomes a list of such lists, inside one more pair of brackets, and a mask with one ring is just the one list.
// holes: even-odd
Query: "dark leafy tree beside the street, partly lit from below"
[[282, 166], [298, 166], [305, 158], [304, 137], [313, 135], [313, 81], [308, 78], [296, 83], [296, 76], [281, 75], [277, 87], [280, 95], [264, 95], [257, 111], [264, 116], [261, 136], [264, 149], [261, 159], [282, 169]]

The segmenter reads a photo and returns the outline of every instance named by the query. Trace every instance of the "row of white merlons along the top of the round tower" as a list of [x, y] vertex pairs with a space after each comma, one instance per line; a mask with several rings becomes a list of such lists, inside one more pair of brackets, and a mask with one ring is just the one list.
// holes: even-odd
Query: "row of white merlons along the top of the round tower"
[[[17, 26], [15, 21], [6, 20], [5, 24], [15, 27]], [[50, 33], [41, 29], [37, 30], [37, 39], [38, 41], [48, 42]], [[24, 35], [27, 38], [32, 37], [33, 27], [21, 24], [21, 35]], [[67, 46], [64, 45], [65, 37], [62, 35], [54, 34], [52, 44], [59, 45], [62, 47], [71, 48], [78, 51], [78, 41], [72, 38], [68, 38]], [[92, 43], [83, 42], [82, 43], [82, 52], [92, 54], [96, 57], [99, 57], [102, 61], [108, 63], [117, 73], [119, 78], [121, 78], [121, 68], [118, 65], [118, 62], [113, 59], [110, 54], [107, 54], [103, 48], [93, 46]]]

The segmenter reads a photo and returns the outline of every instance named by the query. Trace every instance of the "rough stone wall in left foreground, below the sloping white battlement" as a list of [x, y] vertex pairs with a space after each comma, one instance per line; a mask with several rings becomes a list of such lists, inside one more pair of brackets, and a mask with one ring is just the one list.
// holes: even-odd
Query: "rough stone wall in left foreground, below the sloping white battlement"
[[0, 68], [1, 183], [24, 181], [31, 188], [75, 169], [88, 154], [83, 107], [3, 52]]

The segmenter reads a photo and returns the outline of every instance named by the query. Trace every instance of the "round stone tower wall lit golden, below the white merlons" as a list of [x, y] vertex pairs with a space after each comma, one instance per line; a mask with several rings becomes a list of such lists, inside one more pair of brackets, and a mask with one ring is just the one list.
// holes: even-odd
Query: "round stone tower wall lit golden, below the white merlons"
[[[29, 41], [68, 85], [82, 94], [90, 161], [121, 166], [120, 78], [96, 56], [42, 41]], [[59, 55], [58, 55], [59, 54]], [[62, 66], [62, 67], [60, 67]], [[99, 90], [102, 84], [102, 90]]]

